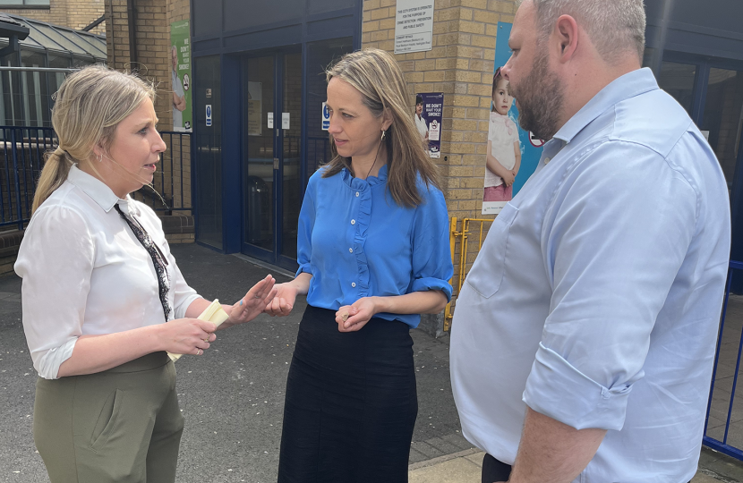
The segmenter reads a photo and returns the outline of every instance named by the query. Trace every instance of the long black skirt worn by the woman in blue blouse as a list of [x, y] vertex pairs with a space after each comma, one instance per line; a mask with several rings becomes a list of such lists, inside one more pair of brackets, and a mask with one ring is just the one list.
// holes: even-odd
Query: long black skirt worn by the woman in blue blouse
[[341, 333], [335, 310], [308, 306], [286, 381], [278, 482], [406, 482], [417, 414], [409, 326], [372, 318]]

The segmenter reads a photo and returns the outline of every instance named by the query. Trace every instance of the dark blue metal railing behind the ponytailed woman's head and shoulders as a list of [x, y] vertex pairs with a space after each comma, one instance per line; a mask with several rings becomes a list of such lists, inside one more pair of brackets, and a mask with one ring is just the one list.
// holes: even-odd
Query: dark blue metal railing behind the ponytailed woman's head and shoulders
[[[192, 213], [192, 134], [160, 134], [167, 150], [160, 157], [153, 180], [157, 192], [144, 187], [132, 196], [156, 211]], [[52, 128], [0, 126], [0, 230], [22, 230], [28, 224], [45, 155], [57, 145]]]

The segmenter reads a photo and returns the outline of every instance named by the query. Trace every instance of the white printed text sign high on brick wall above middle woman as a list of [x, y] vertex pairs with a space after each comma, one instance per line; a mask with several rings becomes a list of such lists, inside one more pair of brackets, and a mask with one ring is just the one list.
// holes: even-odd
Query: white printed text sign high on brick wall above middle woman
[[397, 0], [395, 54], [431, 50], [433, 0]]

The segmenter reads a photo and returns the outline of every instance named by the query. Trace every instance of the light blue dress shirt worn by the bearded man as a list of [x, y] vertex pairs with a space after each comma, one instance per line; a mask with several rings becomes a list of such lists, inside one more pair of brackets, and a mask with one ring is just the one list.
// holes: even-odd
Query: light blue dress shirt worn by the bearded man
[[548, 142], [465, 280], [451, 335], [464, 435], [513, 463], [525, 408], [608, 433], [581, 483], [687, 482], [730, 253], [728, 189], [648, 69]]

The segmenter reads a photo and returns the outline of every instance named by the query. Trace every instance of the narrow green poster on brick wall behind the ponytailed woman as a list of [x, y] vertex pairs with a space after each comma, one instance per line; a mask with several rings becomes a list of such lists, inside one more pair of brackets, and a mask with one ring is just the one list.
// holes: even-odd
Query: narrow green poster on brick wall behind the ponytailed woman
[[173, 131], [191, 132], [191, 41], [188, 21], [170, 24], [170, 64]]

